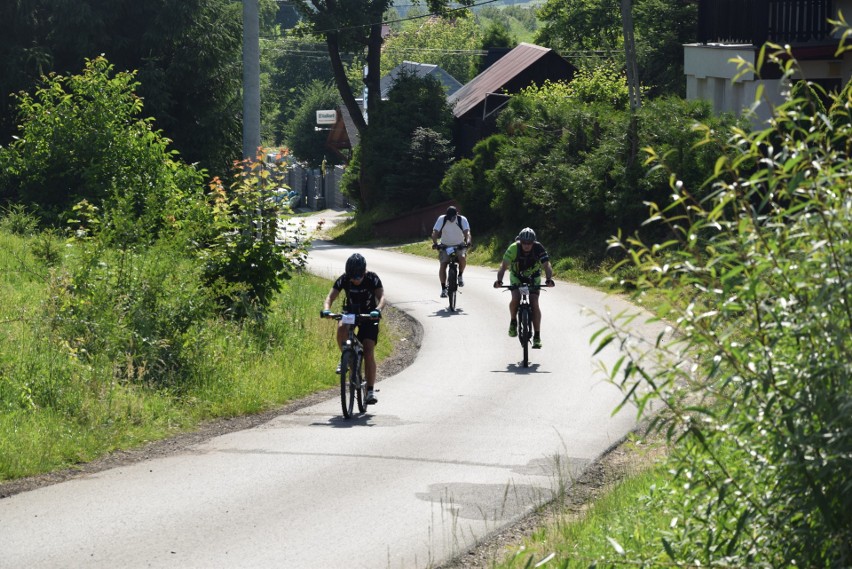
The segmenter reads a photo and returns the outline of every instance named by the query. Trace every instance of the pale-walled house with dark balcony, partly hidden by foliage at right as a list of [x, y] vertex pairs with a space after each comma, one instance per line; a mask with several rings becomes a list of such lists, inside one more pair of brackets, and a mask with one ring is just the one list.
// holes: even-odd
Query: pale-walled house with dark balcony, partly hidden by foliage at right
[[[738, 74], [730, 60], [755, 64], [766, 42], [789, 45], [804, 77], [827, 90], [839, 89], [852, 76], [852, 54], [836, 56], [840, 38], [828, 19], [838, 11], [852, 17], [852, 0], [698, 0], [698, 39], [684, 46], [688, 99], [707, 99], [717, 112], [741, 113], [763, 87], [764, 102], [754, 122], [771, 116], [770, 105], [783, 102], [782, 72], [766, 65], [760, 77]], [[768, 104], [767, 104], [768, 103]]]

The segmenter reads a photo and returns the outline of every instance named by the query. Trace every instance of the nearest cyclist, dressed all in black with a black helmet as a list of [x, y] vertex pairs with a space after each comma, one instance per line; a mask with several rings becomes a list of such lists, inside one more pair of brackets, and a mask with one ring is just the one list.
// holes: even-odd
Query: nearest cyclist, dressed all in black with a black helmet
[[[340, 291], [346, 293], [344, 312], [367, 314], [375, 318], [372, 322], [362, 322], [358, 325], [356, 336], [364, 346], [364, 370], [367, 380], [367, 403], [378, 403], [373, 393], [376, 384], [376, 342], [379, 340], [379, 318], [385, 306], [385, 294], [382, 280], [376, 273], [367, 271], [367, 261], [360, 253], [353, 253], [346, 261], [346, 272], [340, 275], [323, 304], [322, 316], [327, 316], [331, 305], [337, 300]], [[342, 322], [337, 327], [337, 345], [343, 350], [349, 333]], [[337, 370], [340, 373], [340, 369]]]

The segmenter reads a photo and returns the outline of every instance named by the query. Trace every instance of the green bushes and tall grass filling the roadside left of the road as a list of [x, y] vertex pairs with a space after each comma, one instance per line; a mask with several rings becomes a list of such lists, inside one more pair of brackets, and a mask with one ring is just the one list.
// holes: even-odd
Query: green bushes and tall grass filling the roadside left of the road
[[103, 58], [47, 78], [0, 148], [0, 480], [337, 381], [329, 283], [302, 271], [309, 241], [276, 239], [274, 170], [205, 181], [138, 118], [133, 79]]

